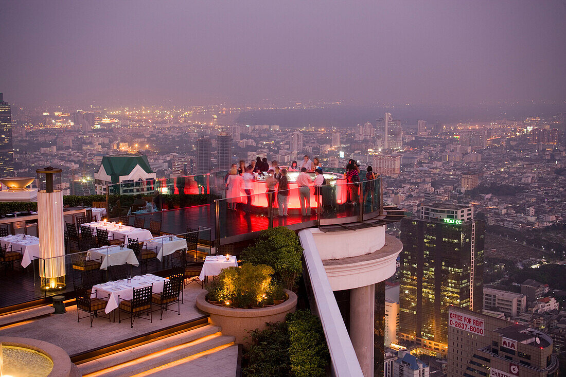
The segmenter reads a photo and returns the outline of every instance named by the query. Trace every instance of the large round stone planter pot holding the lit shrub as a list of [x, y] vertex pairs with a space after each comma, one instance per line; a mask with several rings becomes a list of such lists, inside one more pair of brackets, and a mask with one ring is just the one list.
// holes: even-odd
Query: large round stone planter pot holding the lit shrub
[[267, 322], [283, 322], [288, 313], [297, 308], [297, 295], [285, 290], [289, 299], [275, 306], [258, 309], [234, 309], [231, 307], [216, 306], [206, 301], [207, 292], [201, 292], [196, 297], [196, 307], [208, 313], [212, 324], [222, 328], [223, 335], [233, 335], [235, 342], [247, 346], [246, 337], [249, 331], [256, 328], [265, 329]]

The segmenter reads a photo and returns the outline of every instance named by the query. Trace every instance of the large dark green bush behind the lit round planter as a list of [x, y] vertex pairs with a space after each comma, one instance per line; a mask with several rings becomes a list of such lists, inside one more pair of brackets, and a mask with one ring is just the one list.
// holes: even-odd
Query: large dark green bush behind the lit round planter
[[302, 255], [297, 234], [284, 226], [262, 230], [255, 244], [242, 252], [246, 263], [273, 267], [276, 279], [289, 290], [293, 289], [303, 271]]

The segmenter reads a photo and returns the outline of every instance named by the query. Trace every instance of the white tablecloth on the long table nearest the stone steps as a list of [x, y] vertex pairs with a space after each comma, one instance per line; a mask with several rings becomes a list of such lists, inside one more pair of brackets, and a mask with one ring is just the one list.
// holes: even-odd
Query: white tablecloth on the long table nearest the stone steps
[[91, 298], [107, 298], [110, 294], [108, 304], [106, 304], [104, 309], [106, 314], [108, 314], [119, 306], [118, 296], [120, 296], [120, 301], [123, 299], [131, 300], [134, 297], [134, 288], [138, 289], [151, 284], [153, 284], [153, 293], [161, 293], [163, 292], [163, 284], [165, 281], [169, 281], [169, 279], [147, 273], [145, 275], [132, 277], [130, 283], [124, 279], [116, 282], [97, 284], [92, 287]]

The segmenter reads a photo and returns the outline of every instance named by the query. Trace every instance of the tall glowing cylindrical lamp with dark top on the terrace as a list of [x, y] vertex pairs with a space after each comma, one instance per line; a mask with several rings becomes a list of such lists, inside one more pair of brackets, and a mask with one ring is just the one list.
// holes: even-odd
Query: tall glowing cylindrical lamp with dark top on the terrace
[[61, 169], [37, 169], [37, 228], [40, 249], [41, 289], [65, 288], [65, 237], [63, 232], [63, 192], [57, 189]]

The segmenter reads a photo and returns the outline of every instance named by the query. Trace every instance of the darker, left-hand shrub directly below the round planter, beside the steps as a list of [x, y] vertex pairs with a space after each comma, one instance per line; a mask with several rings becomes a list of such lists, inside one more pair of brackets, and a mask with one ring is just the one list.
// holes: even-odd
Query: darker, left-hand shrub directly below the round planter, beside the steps
[[250, 348], [243, 355], [243, 376], [288, 377], [291, 375], [286, 323], [268, 323], [263, 331], [258, 329], [251, 331], [249, 340]]

